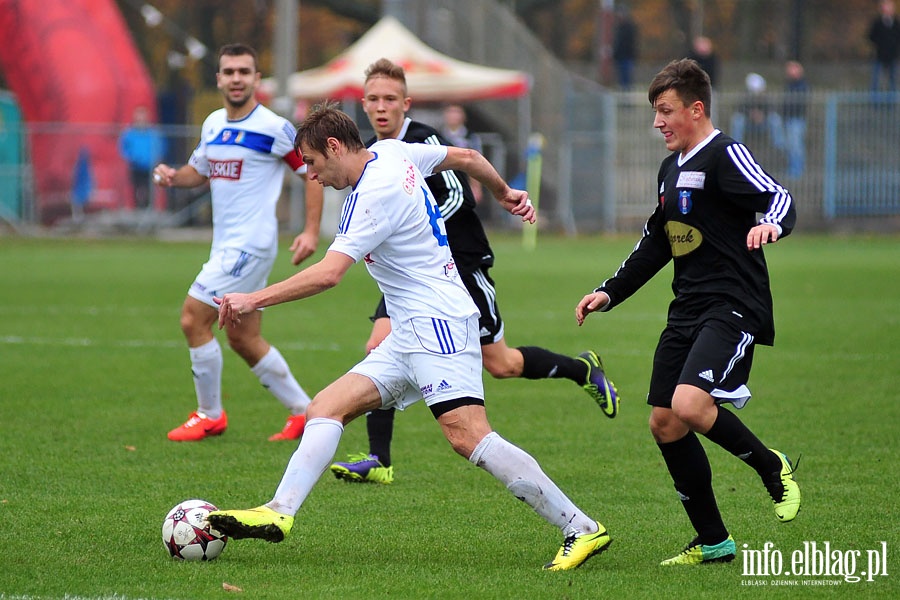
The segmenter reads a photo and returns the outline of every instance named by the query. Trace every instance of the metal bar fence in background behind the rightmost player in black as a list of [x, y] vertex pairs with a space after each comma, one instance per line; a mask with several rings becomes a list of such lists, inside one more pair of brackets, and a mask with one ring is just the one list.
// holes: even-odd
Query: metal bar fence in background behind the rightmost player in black
[[[897, 227], [900, 94], [813, 93], [802, 123], [786, 118], [787, 99], [768, 94], [763, 109], [748, 118], [744, 94], [717, 94], [713, 120], [740, 137], [791, 191], [804, 227]], [[634, 229], [653, 210], [657, 170], [667, 151], [652, 127], [645, 94], [612, 93], [599, 104], [588, 101], [595, 105], [595, 125], [585, 129], [581, 119], [558, 149], [559, 180], [566, 185], [552, 214], [569, 233]], [[804, 134], [798, 148], [802, 163], [790, 144], [797, 132]]]

